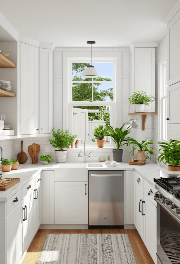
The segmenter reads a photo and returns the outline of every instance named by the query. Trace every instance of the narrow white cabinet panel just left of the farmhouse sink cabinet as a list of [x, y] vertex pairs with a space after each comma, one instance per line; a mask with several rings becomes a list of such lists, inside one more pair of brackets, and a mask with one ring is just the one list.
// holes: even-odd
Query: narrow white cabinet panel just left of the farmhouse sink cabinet
[[54, 224], [54, 171], [41, 172], [41, 224]]

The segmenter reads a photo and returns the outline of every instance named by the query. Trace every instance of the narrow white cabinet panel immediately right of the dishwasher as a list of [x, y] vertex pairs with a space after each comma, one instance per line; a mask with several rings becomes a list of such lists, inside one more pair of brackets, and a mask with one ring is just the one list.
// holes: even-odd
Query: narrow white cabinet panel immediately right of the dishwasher
[[134, 224], [134, 171], [126, 171], [126, 224]]

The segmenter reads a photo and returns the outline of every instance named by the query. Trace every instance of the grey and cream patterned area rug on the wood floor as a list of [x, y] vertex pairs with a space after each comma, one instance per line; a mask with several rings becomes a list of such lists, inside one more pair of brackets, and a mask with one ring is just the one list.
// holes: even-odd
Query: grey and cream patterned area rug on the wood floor
[[136, 264], [127, 234], [48, 234], [38, 264]]

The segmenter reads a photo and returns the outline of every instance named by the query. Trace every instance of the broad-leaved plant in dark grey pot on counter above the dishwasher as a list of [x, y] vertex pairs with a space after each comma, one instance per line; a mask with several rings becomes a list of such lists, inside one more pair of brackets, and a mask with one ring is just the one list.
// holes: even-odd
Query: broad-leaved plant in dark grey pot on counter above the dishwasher
[[[116, 144], [116, 149], [112, 150], [113, 159], [117, 162], [122, 162], [122, 153], [123, 149], [120, 149], [124, 144], [127, 144], [131, 138], [125, 138], [127, 134], [131, 132], [130, 128], [127, 128], [126, 130], [122, 131], [124, 125], [121, 126], [121, 128], [115, 128], [112, 126], [106, 125], [107, 128], [107, 136], [111, 136], [112, 140]], [[122, 142], [126, 142], [122, 144]]]

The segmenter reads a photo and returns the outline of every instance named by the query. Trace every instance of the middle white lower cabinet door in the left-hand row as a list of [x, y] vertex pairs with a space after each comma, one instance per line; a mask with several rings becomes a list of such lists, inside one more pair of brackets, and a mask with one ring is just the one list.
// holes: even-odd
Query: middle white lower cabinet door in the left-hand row
[[27, 196], [23, 199], [23, 252], [34, 236], [34, 190]]

